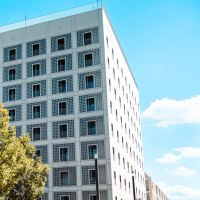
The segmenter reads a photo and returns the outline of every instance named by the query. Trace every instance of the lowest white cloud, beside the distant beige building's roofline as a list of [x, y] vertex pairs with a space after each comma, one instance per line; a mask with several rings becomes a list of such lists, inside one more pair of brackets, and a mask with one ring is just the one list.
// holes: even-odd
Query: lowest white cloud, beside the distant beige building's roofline
[[164, 182], [157, 183], [169, 199], [173, 200], [199, 200], [200, 189], [194, 189], [183, 185], [167, 186]]

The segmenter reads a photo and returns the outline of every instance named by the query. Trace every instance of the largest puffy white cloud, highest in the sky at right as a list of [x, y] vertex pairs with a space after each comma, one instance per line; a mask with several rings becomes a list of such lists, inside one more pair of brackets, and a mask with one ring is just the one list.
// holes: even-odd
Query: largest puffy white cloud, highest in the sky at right
[[184, 100], [161, 99], [151, 103], [142, 117], [156, 120], [157, 126], [200, 124], [200, 95]]

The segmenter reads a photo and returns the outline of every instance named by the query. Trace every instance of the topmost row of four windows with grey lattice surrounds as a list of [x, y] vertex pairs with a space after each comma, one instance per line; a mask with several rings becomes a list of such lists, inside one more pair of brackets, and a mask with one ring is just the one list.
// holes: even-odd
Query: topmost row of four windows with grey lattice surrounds
[[[98, 43], [98, 27], [77, 32], [77, 46]], [[26, 45], [27, 57], [46, 53], [46, 39], [28, 42]], [[62, 51], [71, 48], [71, 33], [51, 38], [51, 51]], [[4, 62], [21, 59], [22, 45], [4, 48]]]

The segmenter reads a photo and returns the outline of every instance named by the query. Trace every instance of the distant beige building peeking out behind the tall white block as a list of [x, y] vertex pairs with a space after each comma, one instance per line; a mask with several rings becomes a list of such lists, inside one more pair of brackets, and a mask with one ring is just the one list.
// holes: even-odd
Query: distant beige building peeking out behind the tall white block
[[145, 173], [145, 181], [147, 200], [169, 200], [147, 173]]

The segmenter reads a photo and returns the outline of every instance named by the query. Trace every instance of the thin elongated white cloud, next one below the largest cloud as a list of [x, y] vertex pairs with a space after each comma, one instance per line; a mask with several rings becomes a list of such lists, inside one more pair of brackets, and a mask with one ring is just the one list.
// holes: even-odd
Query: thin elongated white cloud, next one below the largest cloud
[[170, 153], [164, 154], [161, 158], [155, 159], [159, 163], [175, 163], [183, 158], [200, 157], [200, 148], [195, 147], [180, 147], [175, 148]]

